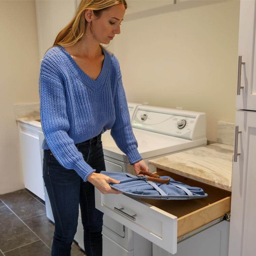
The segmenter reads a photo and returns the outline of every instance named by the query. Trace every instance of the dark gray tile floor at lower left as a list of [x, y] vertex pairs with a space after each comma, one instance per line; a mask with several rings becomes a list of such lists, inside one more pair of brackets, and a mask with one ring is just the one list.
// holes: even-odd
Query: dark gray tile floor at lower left
[[[0, 195], [0, 256], [51, 255], [54, 224], [43, 201], [27, 189]], [[72, 244], [72, 256], [84, 252]]]

